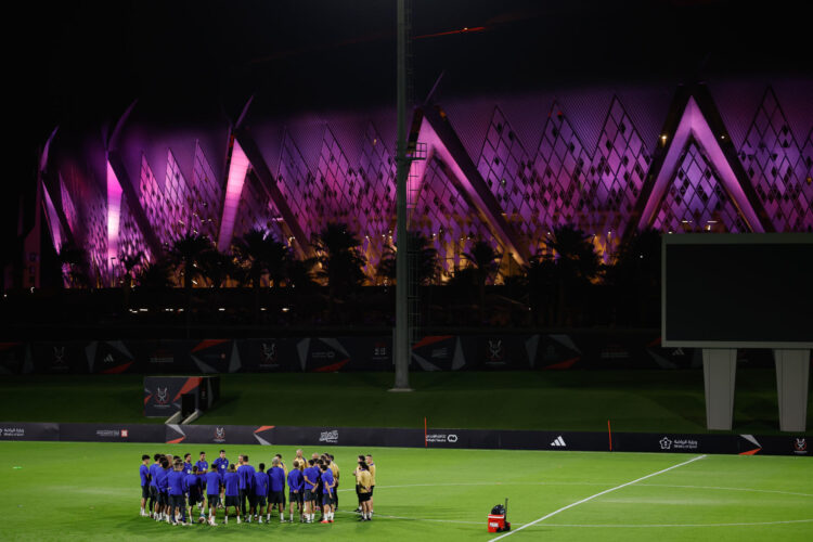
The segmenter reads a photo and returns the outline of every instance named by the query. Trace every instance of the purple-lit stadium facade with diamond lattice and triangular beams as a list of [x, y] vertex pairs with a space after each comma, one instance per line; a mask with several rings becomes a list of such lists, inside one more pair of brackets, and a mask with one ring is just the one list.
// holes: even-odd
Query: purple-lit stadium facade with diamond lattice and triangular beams
[[[811, 231], [810, 95], [791, 80], [427, 102], [410, 132], [426, 147], [410, 172], [411, 228], [447, 270], [478, 238], [522, 263], [565, 223], [606, 259], [643, 228]], [[57, 133], [40, 164], [54, 247], [86, 248], [100, 284], [120, 276], [121, 256], [152, 259], [188, 231], [227, 250], [260, 228], [306, 257], [327, 222], [346, 223], [371, 278], [396, 241], [392, 112], [274, 121], [249, 101], [231, 126], [173, 130], [128, 117], [81, 151], [54, 152]]]

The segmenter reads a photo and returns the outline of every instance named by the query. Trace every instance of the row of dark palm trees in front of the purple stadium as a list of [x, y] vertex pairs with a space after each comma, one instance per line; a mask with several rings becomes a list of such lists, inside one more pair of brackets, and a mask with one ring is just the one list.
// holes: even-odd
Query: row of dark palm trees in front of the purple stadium
[[[660, 234], [653, 230], [631, 236], [616, 250], [611, 264], [602, 262], [592, 236], [572, 224], [555, 228], [526, 264], [508, 269], [501, 266], [504, 255], [479, 240], [462, 254], [465, 264], [447, 276], [427, 236], [410, 232], [408, 243], [414, 280], [424, 286], [418, 288], [421, 295], [425, 297], [426, 286], [443, 283], [461, 304], [477, 307], [480, 322], [488, 320], [487, 285], [494, 283], [506, 286], [508, 295], [530, 310], [534, 324], [573, 323], [597, 285], [611, 286], [616, 307], [635, 312], [638, 319], [650, 310], [653, 298], [659, 294]], [[328, 223], [314, 236], [312, 247], [314, 257], [296, 258], [288, 245], [267, 231], [251, 230], [235, 238], [230, 253], [221, 253], [209, 237], [189, 232], [153, 261], [147, 261], [143, 253], [118, 258], [125, 305], [136, 286], [153, 292], [182, 286], [189, 314], [195, 285], [250, 285], [255, 317], [259, 319], [260, 293], [266, 288], [312, 292], [321, 285], [328, 312], [336, 315], [341, 312], [341, 304], [369, 283], [361, 240], [345, 224]], [[60, 261], [69, 285], [89, 282], [81, 250], [64, 247]], [[377, 266], [376, 281], [391, 284], [395, 279], [396, 247], [389, 245]]]

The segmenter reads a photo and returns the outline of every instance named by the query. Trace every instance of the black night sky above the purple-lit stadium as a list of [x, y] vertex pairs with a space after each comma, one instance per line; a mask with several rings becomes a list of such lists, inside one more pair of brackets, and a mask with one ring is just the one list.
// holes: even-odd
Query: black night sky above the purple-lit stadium
[[[133, 99], [166, 121], [395, 104], [396, 0], [25, 2], [9, 17], [20, 191], [57, 124], [99, 130]], [[414, 0], [415, 94], [752, 73], [809, 75], [802, 2]], [[699, 74], [699, 75], [698, 75]], [[256, 109], [255, 109], [256, 112]], [[8, 179], [8, 178], [7, 178]], [[7, 203], [8, 205], [8, 203]], [[7, 209], [3, 209], [4, 211]], [[8, 223], [8, 215], [3, 214]]]

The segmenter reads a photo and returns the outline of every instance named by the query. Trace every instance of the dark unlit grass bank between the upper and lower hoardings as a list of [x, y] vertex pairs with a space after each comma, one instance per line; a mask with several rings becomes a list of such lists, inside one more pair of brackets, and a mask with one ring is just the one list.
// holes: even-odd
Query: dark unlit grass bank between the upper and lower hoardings
[[[389, 373], [229, 374], [202, 424], [706, 433], [701, 371], [415, 373], [391, 393]], [[0, 420], [151, 421], [138, 375], [9, 377]], [[302, 408], [304, 404], [322, 408]], [[813, 396], [809, 420], [813, 420]], [[740, 370], [734, 431], [778, 429], [775, 376]], [[152, 420], [159, 423], [160, 420]]]

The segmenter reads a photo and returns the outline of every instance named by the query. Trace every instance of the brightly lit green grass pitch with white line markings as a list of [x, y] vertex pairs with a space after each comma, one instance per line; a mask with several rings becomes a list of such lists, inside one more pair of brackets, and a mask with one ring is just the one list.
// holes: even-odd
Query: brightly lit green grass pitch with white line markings
[[[227, 446], [253, 464], [293, 447]], [[0, 443], [0, 540], [474, 540], [491, 506], [509, 498], [504, 540], [813, 540], [813, 462], [804, 457], [491, 450], [330, 449], [344, 475], [332, 525], [172, 527], [139, 517], [142, 453], [211, 446]], [[325, 450], [309, 450], [306, 453]], [[378, 465], [376, 516], [358, 522], [347, 475], [354, 456]], [[647, 475], [681, 465], [628, 485]], [[534, 521], [567, 505], [592, 500]], [[221, 513], [222, 515], [222, 513]]]

